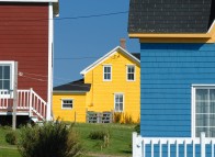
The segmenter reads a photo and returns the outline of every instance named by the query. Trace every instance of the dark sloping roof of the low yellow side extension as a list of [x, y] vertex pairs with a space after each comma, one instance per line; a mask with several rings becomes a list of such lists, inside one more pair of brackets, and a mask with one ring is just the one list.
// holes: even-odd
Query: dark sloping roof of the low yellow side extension
[[90, 83], [84, 83], [83, 79], [79, 79], [69, 83], [54, 87], [54, 92], [64, 91], [64, 92], [88, 92], [90, 91]]

